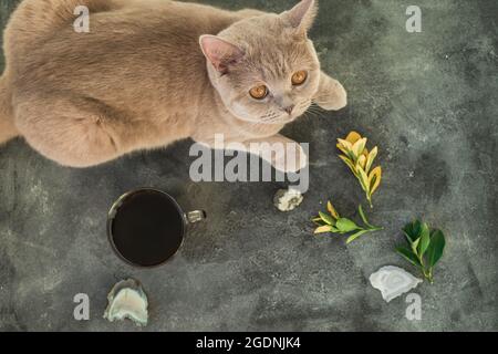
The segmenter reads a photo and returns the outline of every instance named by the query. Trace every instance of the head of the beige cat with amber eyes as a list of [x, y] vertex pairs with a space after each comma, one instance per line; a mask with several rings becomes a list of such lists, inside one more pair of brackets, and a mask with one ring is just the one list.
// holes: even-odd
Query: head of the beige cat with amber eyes
[[212, 85], [227, 110], [252, 123], [286, 124], [302, 115], [320, 83], [320, 62], [308, 39], [315, 0], [281, 14], [236, 22], [200, 37]]

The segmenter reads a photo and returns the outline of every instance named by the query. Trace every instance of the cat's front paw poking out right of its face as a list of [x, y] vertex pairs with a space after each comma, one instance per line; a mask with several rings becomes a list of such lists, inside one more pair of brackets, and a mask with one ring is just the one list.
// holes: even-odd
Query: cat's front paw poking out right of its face
[[313, 102], [326, 111], [339, 111], [347, 105], [347, 93], [341, 83], [321, 73], [320, 87]]

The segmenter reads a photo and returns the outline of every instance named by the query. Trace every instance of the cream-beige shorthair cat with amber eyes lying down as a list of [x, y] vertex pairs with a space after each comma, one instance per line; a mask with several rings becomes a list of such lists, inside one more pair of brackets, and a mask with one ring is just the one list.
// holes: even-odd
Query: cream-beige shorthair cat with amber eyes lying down
[[[89, 9], [89, 32], [73, 23]], [[69, 167], [193, 138], [293, 143], [312, 103], [346, 105], [308, 32], [315, 0], [280, 14], [165, 0], [23, 0], [4, 30], [0, 143], [15, 136]], [[267, 154], [262, 154], [267, 155]], [[307, 165], [295, 145], [294, 164]], [[289, 156], [287, 156], [288, 159]], [[282, 167], [283, 166], [283, 167]]]

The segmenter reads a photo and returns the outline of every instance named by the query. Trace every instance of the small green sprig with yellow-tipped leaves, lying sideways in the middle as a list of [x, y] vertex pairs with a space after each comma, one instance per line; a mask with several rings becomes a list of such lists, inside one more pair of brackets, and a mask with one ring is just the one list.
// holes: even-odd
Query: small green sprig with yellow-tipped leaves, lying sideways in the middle
[[383, 230], [383, 228], [370, 223], [361, 205], [359, 206], [357, 211], [362, 218], [363, 226], [359, 226], [351, 219], [342, 218], [330, 201], [326, 204], [326, 209], [329, 214], [320, 211], [319, 217], [313, 219], [313, 222], [319, 226], [314, 230], [315, 235], [350, 235], [346, 241], [349, 244], [365, 233]]

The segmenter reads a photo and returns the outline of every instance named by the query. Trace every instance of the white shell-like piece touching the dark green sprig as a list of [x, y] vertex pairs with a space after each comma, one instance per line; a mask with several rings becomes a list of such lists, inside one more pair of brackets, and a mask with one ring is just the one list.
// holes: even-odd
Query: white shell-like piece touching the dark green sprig
[[413, 277], [404, 269], [387, 266], [370, 275], [370, 283], [382, 293], [382, 298], [390, 302], [397, 296], [415, 289], [423, 280]]

